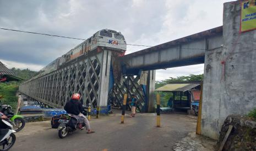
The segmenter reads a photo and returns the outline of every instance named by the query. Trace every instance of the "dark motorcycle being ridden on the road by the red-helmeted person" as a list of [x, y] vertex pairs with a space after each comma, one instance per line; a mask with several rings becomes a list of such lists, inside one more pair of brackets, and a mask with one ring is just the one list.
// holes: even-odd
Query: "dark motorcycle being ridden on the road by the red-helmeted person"
[[[85, 108], [82, 114], [87, 115]], [[51, 125], [53, 129], [58, 130], [59, 138], [64, 138], [69, 132], [74, 132], [77, 129], [83, 130], [85, 127], [84, 118], [73, 114], [55, 115], [52, 117]]]

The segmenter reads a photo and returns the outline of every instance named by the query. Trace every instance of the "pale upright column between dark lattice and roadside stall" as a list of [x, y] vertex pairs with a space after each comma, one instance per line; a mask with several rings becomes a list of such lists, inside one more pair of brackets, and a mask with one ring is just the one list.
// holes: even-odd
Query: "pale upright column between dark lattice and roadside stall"
[[149, 113], [155, 112], [155, 82], [156, 82], [156, 71], [151, 70], [148, 72], [148, 80], [146, 84], [146, 95], [148, 98], [148, 111]]

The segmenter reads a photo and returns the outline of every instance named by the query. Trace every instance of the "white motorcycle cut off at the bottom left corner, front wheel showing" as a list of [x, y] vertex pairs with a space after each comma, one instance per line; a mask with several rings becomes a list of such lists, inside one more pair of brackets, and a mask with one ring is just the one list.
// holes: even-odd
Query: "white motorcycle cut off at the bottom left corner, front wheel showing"
[[16, 141], [13, 126], [6, 120], [0, 121], [0, 151], [9, 150]]

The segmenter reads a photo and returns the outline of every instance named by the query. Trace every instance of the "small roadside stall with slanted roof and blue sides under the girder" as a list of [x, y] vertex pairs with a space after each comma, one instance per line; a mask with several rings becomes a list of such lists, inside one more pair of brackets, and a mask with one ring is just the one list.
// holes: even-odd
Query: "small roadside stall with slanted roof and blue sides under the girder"
[[[155, 91], [171, 92], [172, 96], [168, 99], [167, 106], [172, 110], [191, 110], [195, 115], [198, 113], [200, 98], [200, 82], [173, 82], [166, 84]], [[162, 110], [168, 108], [162, 108]]]

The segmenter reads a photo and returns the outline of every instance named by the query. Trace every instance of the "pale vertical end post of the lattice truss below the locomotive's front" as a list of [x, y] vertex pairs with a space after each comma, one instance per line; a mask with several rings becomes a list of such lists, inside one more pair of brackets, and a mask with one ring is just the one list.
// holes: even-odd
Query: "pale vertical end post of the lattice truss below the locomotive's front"
[[101, 61], [101, 71], [100, 71], [100, 88], [98, 92], [98, 107], [107, 106], [108, 98], [108, 84], [110, 79], [110, 64], [111, 63], [111, 51], [103, 50], [102, 61]]

